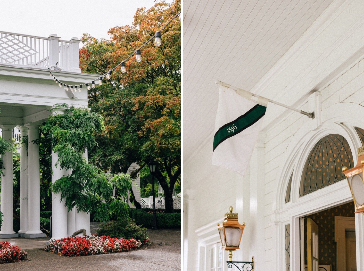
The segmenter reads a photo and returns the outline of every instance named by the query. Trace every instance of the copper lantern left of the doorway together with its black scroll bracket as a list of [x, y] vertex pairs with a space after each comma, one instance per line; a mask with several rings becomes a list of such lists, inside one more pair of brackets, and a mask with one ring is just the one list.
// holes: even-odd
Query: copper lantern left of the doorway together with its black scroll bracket
[[245, 223], [240, 224], [238, 222], [238, 213], [233, 213], [232, 206], [230, 206], [229, 211], [229, 213], [225, 214], [225, 219], [224, 222], [222, 222], [222, 225], [217, 224], [222, 248], [229, 251], [229, 261], [227, 261], [227, 267], [231, 268], [234, 265], [239, 270], [245, 270], [244, 268], [249, 266], [252, 268], [250, 270], [254, 271], [254, 257], [252, 258], [252, 262], [232, 262], [232, 252], [239, 249]]

